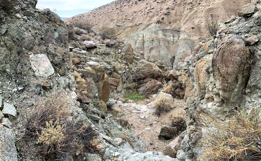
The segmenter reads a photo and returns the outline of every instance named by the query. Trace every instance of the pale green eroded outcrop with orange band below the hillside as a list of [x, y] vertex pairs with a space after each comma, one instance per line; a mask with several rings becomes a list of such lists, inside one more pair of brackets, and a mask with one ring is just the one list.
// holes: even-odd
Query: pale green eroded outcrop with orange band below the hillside
[[189, 34], [179, 29], [160, 29], [155, 26], [131, 37], [129, 42], [133, 48], [143, 52], [145, 60], [159, 60], [174, 69], [192, 53], [193, 42]]

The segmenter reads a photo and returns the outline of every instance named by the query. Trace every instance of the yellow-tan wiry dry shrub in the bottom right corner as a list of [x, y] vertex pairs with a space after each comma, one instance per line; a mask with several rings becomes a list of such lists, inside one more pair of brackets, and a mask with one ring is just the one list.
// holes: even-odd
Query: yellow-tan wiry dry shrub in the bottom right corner
[[254, 111], [252, 115], [245, 110], [235, 111], [235, 115], [225, 121], [205, 123], [208, 137], [200, 140], [203, 147], [200, 160], [260, 161], [260, 112]]

